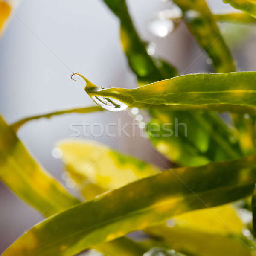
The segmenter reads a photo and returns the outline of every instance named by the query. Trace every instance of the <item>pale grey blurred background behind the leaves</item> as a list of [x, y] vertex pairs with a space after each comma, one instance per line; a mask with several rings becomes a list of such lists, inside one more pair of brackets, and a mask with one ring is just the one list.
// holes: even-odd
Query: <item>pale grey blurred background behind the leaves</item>
[[[174, 64], [180, 73], [201, 54], [186, 26], [165, 38], [148, 32], [148, 23], [171, 3], [128, 0], [131, 16], [142, 38], [156, 44], [156, 56]], [[213, 12], [230, 10], [221, 0], [209, 1]], [[222, 24], [224, 38], [237, 60], [238, 70], [256, 70], [256, 29], [252, 25]], [[185, 73], [210, 72], [203, 54]], [[0, 40], [0, 113], [8, 123], [20, 118], [68, 107], [93, 105], [84, 84], [70, 79], [81, 73], [102, 87], [136, 87], [119, 44], [119, 20], [101, 0], [22, 0]], [[128, 112], [71, 114], [24, 125], [18, 136], [40, 163], [61, 180], [63, 165], [52, 156], [56, 142], [70, 136], [71, 123], [131, 122]], [[139, 132], [136, 134], [139, 135]], [[81, 137], [82, 139], [82, 137]], [[85, 138], [83, 138], [85, 139]], [[150, 143], [138, 137], [90, 138], [164, 167]], [[64, 180], [61, 180], [64, 183]], [[34, 221], [37, 211], [0, 183], [0, 253]]]

